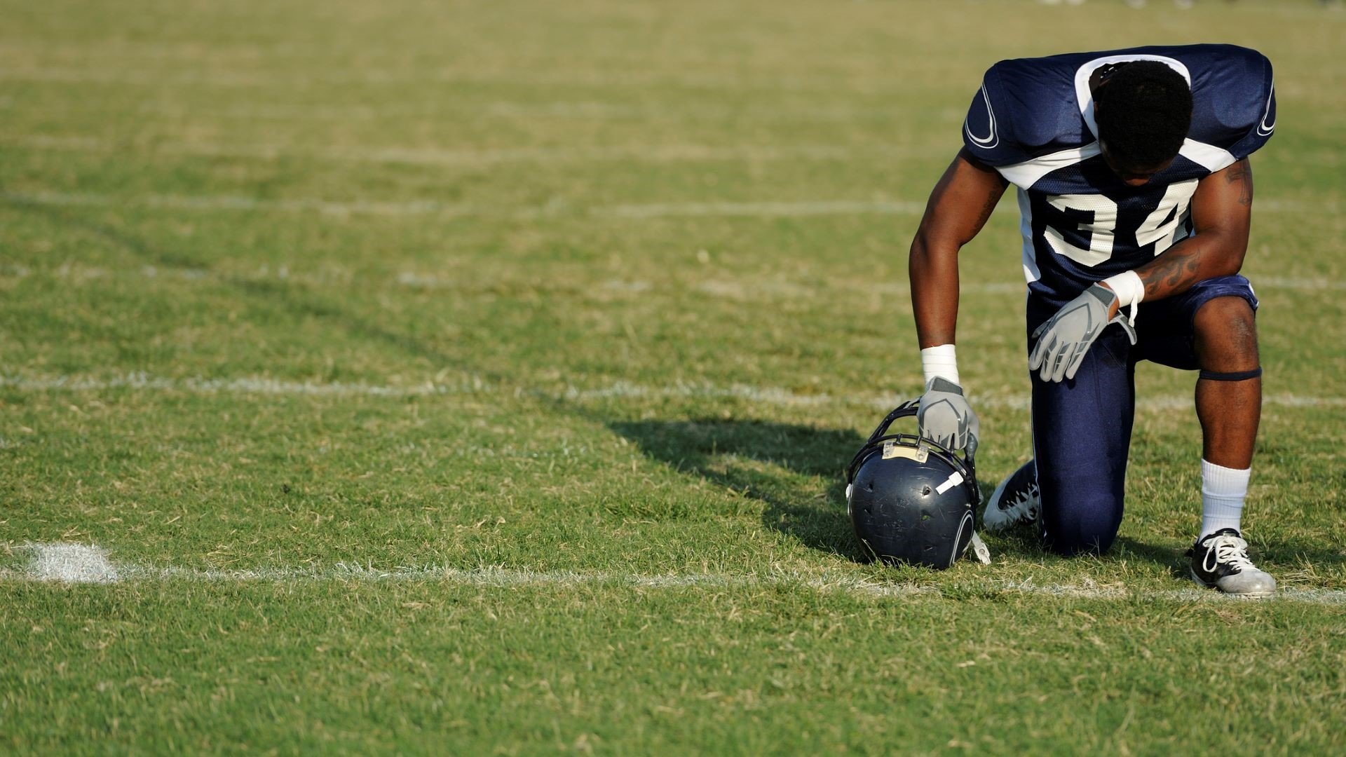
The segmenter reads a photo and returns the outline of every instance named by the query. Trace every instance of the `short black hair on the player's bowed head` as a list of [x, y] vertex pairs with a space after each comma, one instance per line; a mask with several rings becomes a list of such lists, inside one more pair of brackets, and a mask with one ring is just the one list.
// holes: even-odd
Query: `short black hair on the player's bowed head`
[[1132, 61], [1094, 89], [1098, 139], [1127, 166], [1159, 166], [1182, 150], [1191, 127], [1191, 88], [1159, 61]]

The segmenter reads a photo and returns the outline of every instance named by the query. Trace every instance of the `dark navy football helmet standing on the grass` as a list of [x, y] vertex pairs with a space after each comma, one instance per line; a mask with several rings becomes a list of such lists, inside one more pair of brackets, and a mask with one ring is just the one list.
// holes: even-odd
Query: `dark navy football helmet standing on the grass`
[[855, 536], [870, 559], [944, 570], [976, 540], [981, 502], [972, 454], [958, 457], [930, 439], [888, 434], [900, 418], [914, 418], [919, 400], [890, 412], [847, 470], [847, 509]]

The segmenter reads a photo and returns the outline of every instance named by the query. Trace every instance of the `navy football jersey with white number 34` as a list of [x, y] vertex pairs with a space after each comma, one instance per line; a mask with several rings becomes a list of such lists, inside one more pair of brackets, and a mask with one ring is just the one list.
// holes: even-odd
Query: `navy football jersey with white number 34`
[[[1094, 70], [1124, 61], [1159, 61], [1191, 85], [1187, 140], [1172, 166], [1140, 187], [1100, 155], [1089, 89]], [[1001, 61], [972, 98], [962, 139], [1018, 187], [1030, 292], [1063, 304], [1187, 237], [1197, 182], [1250, 155], [1275, 125], [1265, 57], [1191, 44]]]

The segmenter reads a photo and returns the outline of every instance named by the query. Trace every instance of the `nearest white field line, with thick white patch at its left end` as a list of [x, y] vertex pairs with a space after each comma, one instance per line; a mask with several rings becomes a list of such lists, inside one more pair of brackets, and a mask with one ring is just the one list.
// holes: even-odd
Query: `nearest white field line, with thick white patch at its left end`
[[[330, 567], [264, 567], [245, 570], [209, 570], [175, 566], [137, 566], [117, 563], [106, 550], [96, 544], [43, 544], [23, 547], [30, 552], [30, 563], [20, 570], [0, 571], [0, 579], [36, 581], [48, 583], [124, 583], [147, 581], [199, 581], [221, 583], [257, 582], [447, 582], [463, 586], [634, 586], [641, 589], [681, 587], [760, 587], [798, 586], [817, 591], [861, 594], [870, 597], [942, 597], [938, 586], [913, 583], [880, 583], [872, 579], [818, 572], [750, 574], [665, 574], [642, 575], [618, 571], [534, 571], [503, 567], [456, 568], [443, 566], [374, 568], [361, 563], [335, 563]], [[979, 587], [980, 589], [980, 587]], [[1046, 595], [1079, 599], [1131, 599], [1137, 597], [1123, 585], [1039, 585], [1034, 582], [997, 581], [987, 577], [988, 591]], [[1183, 602], [1237, 601], [1215, 591], [1195, 587], [1166, 591], [1147, 591], [1140, 598]], [[1276, 598], [1284, 602], [1312, 605], [1346, 603], [1346, 591], [1330, 589], [1281, 589]]]

